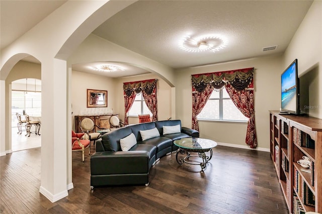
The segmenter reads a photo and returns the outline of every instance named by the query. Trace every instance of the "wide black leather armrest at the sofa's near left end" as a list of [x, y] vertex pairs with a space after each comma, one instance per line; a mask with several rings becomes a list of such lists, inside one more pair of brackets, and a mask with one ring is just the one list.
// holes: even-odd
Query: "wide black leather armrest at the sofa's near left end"
[[147, 151], [96, 152], [91, 156], [91, 175], [141, 174], [149, 171]]

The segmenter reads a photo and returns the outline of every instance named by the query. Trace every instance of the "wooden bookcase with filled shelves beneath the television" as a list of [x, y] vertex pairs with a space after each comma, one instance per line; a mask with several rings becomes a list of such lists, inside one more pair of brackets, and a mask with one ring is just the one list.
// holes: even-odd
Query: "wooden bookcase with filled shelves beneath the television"
[[289, 213], [322, 213], [322, 119], [270, 111], [270, 152]]

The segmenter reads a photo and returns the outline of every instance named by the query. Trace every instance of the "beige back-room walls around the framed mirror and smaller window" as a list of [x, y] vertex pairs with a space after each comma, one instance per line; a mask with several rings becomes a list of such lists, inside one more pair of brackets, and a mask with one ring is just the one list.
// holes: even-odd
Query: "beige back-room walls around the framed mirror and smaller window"
[[[87, 89], [108, 91], [108, 108], [120, 114], [124, 121], [123, 82], [139, 81], [145, 79], [158, 79], [157, 103], [158, 120], [167, 120], [171, 117], [171, 87], [167, 82], [159, 79], [157, 75], [147, 74], [124, 78], [109, 78], [79, 71], [71, 74], [71, 103], [72, 103], [72, 129], [75, 130], [75, 115], [81, 115], [87, 109]], [[92, 108], [90, 108], [92, 109]], [[138, 123], [137, 117], [129, 118], [130, 124]]]

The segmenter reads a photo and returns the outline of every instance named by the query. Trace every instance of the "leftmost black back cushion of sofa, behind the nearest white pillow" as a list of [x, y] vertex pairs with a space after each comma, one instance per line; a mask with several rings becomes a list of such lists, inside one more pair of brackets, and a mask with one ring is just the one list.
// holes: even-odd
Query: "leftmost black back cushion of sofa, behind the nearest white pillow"
[[132, 133], [130, 127], [123, 127], [109, 132], [102, 136], [102, 144], [105, 151], [116, 152], [122, 151], [120, 139], [129, 136]]

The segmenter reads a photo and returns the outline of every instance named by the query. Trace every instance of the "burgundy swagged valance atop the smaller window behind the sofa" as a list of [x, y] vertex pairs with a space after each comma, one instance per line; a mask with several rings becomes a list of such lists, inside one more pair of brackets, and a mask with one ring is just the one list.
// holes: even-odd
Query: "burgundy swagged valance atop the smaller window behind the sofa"
[[146, 94], [152, 94], [154, 87], [156, 87], [157, 79], [147, 79], [142, 81], [136, 82], [124, 82], [123, 83], [123, 90], [127, 96], [130, 96], [133, 91], [135, 93], [140, 93], [144, 91]]

